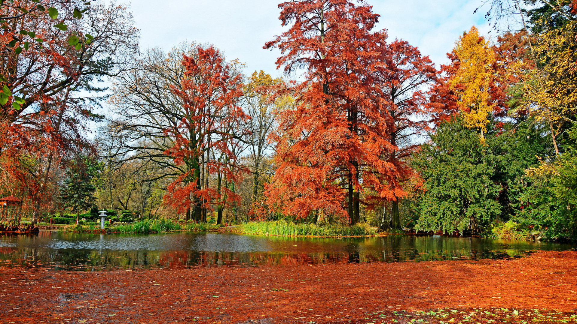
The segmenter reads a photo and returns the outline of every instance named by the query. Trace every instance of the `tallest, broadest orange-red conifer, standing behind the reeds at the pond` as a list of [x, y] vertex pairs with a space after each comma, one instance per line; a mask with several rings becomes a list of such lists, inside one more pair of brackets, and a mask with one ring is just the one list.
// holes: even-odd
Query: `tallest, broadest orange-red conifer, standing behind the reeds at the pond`
[[294, 87], [296, 107], [280, 112], [274, 138], [279, 168], [268, 195], [285, 214], [314, 213], [317, 221], [335, 215], [354, 224], [364, 188], [384, 200], [404, 195], [398, 169], [385, 157], [395, 149], [394, 122], [383, 113], [387, 102], [371, 74], [384, 64], [384, 37], [371, 32], [379, 15], [359, 3], [279, 5], [282, 25], [290, 26], [265, 48], [279, 48], [276, 63], [285, 73], [305, 70]]

